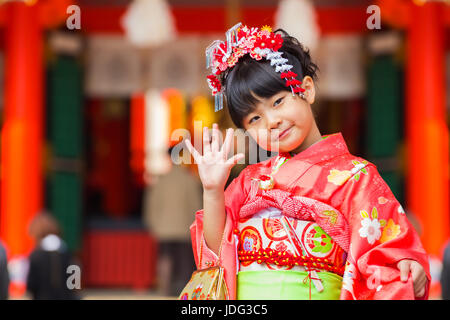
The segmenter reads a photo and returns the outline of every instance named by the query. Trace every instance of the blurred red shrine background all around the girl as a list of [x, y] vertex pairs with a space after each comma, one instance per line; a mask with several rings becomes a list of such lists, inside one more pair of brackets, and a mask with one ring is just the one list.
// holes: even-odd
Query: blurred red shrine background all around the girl
[[377, 165], [448, 292], [448, 1], [0, 0], [0, 298], [177, 297], [202, 189], [169, 152], [233, 126], [204, 51], [237, 22], [310, 48], [321, 133]]

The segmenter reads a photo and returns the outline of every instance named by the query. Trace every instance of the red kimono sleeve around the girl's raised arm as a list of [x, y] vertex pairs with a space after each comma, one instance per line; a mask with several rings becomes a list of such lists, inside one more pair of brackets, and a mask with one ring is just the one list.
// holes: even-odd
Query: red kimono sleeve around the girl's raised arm
[[[246, 199], [245, 169], [235, 178], [225, 190], [226, 221], [222, 238], [222, 255], [225, 248], [235, 246], [233, 231], [235, 221], [238, 220], [239, 210]], [[195, 220], [190, 226], [192, 250], [194, 253], [197, 269], [209, 268], [217, 265], [218, 257], [206, 244], [203, 234], [203, 209], [195, 214]], [[231, 259], [235, 259], [229, 257]], [[234, 261], [233, 261], [234, 262]]]

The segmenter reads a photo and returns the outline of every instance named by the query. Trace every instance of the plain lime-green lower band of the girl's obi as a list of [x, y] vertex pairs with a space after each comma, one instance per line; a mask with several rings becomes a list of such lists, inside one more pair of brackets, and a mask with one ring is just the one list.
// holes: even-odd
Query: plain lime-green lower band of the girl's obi
[[[240, 271], [237, 275], [237, 300], [339, 300], [342, 277], [321, 271], [317, 275], [324, 287], [318, 292], [306, 271]], [[311, 287], [310, 287], [311, 286]]]

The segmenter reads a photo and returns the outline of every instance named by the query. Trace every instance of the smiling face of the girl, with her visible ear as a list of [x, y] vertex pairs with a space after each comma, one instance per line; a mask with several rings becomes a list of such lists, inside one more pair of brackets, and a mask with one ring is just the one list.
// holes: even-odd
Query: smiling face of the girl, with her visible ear
[[314, 83], [303, 79], [305, 99], [280, 91], [267, 99], [259, 99], [253, 112], [243, 119], [243, 127], [258, 145], [274, 152], [300, 152], [320, 140], [311, 106]]

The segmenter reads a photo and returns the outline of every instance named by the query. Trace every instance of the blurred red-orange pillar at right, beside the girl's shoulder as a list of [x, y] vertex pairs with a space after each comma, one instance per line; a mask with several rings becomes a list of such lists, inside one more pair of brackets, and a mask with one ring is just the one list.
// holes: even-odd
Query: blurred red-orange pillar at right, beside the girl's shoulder
[[422, 224], [425, 249], [438, 257], [449, 237], [443, 10], [412, 5], [406, 70], [408, 207]]

